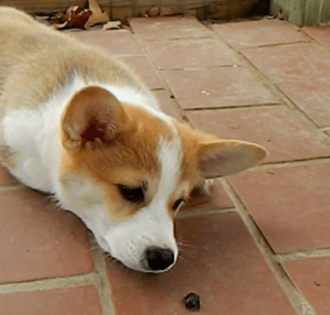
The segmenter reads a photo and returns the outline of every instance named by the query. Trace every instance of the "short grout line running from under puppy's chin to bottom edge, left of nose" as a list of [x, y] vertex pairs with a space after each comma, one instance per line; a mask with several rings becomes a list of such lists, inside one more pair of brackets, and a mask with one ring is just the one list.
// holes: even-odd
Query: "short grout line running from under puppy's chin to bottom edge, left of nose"
[[[94, 239], [94, 236], [90, 237], [90, 242], [97, 243], [97, 241]], [[98, 246], [97, 248], [92, 248], [91, 246], [91, 256], [95, 264], [96, 286], [100, 298], [102, 314], [114, 315], [116, 313], [112, 304], [111, 286], [107, 276], [106, 259], [99, 251]]]

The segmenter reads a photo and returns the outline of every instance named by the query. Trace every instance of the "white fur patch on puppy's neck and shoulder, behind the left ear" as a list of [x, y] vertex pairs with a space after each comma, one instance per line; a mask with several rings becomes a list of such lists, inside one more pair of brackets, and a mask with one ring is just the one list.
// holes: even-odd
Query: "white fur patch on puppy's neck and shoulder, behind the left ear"
[[24, 185], [55, 193], [62, 150], [57, 134], [61, 117], [72, 96], [82, 87], [81, 80], [72, 79], [68, 86], [36, 110], [12, 110], [4, 116], [4, 141], [19, 152], [18, 167], [11, 173]]

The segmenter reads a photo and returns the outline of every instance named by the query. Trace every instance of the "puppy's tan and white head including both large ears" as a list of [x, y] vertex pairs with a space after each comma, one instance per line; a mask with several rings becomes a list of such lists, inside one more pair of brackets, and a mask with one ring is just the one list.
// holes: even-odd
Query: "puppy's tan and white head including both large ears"
[[87, 87], [69, 101], [61, 130], [59, 199], [124, 265], [163, 272], [178, 257], [174, 217], [205, 178], [246, 170], [266, 152], [220, 140]]

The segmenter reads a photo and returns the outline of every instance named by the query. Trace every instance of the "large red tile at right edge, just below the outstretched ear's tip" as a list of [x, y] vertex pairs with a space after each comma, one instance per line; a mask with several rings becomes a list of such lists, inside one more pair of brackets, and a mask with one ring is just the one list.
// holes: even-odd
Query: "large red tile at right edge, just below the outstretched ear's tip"
[[330, 163], [229, 177], [276, 252], [330, 246]]

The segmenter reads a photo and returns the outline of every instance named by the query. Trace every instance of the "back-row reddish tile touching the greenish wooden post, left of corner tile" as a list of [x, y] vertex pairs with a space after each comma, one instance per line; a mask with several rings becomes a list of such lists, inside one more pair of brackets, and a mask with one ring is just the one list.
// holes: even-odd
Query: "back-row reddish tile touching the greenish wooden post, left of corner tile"
[[276, 19], [213, 24], [212, 28], [230, 45], [238, 50], [309, 41], [293, 24]]

